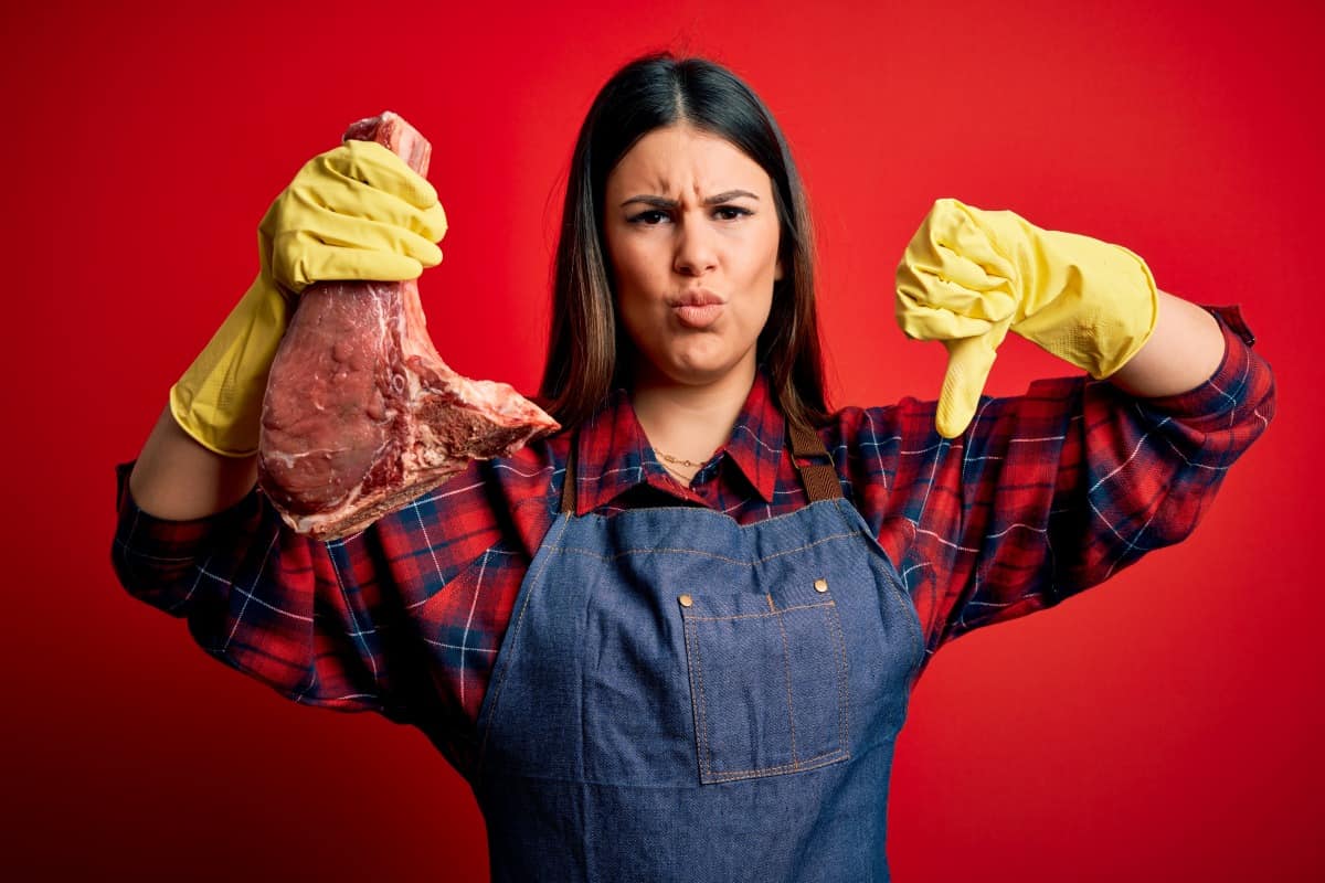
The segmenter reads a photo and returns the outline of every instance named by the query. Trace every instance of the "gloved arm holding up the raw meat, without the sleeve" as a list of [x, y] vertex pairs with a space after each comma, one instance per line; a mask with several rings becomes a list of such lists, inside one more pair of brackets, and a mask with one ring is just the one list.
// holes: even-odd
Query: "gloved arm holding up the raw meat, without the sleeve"
[[413, 279], [441, 261], [431, 184], [372, 142], [310, 160], [258, 225], [260, 271], [179, 383], [130, 478], [135, 502], [186, 520], [253, 488], [262, 395], [294, 297], [313, 282]]

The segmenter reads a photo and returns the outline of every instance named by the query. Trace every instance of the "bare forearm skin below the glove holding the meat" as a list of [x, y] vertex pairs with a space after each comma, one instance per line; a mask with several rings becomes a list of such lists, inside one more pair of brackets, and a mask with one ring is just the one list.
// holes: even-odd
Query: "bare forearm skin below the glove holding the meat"
[[213, 515], [253, 490], [257, 457], [221, 457], [193, 441], [170, 408], [143, 445], [129, 490], [139, 508], [170, 520]]

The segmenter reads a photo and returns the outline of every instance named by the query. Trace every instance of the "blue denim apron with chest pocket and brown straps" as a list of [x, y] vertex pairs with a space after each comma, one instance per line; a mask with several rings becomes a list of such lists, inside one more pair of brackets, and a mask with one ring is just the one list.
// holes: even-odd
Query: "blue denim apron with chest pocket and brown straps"
[[888, 879], [920, 620], [818, 436], [791, 441], [810, 503], [741, 526], [575, 516], [572, 440], [478, 715], [493, 880]]

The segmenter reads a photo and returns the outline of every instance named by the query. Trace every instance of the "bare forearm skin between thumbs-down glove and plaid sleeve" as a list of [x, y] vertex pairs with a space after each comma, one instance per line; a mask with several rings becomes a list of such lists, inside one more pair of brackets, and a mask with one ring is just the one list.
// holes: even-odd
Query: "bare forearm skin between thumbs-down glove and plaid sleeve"
[[1195, 303], [1159, 291], [1154, 332], [1109, 381], [1133, 396], [1171, 396], [1208, 380], [1223, 355], [1224, 338], [1215, 318]]

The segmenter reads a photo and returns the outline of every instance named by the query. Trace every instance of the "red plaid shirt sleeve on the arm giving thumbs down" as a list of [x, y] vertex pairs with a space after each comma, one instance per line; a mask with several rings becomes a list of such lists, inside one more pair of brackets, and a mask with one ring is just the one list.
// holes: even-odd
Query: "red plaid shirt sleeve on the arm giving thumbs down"
[[1177, 396], [1040, 380], [983, 397], [955, 440], [934, 430], [931, 401], [843, 412], [857, 507], [916, 604], [928, 655], [1191, 534], [1275, 413], [1273, 376], [1240, 311], [1207, 310], [1224, 356]]

